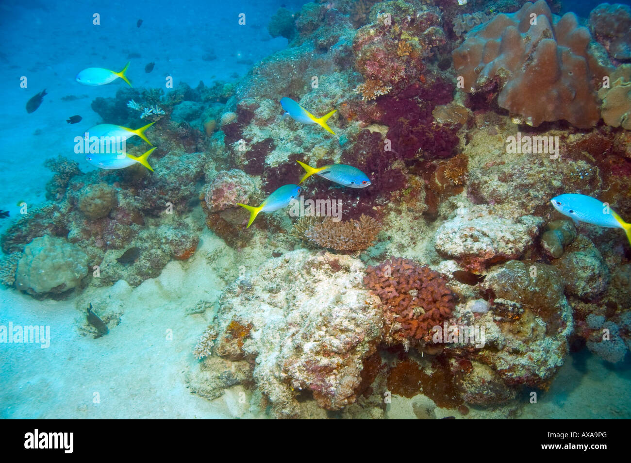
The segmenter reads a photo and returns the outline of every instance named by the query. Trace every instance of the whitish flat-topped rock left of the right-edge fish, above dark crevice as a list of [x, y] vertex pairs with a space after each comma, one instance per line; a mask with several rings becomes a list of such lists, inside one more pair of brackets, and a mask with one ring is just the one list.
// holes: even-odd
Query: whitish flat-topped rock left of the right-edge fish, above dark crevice
[[436, 250], [462, 261], [471, 270], [488, 262], [515, 259], [533, 244], [543, 220], [521, 216], [516, 220], [490, 213], [488, 206], [460, 208], [436, 231]]

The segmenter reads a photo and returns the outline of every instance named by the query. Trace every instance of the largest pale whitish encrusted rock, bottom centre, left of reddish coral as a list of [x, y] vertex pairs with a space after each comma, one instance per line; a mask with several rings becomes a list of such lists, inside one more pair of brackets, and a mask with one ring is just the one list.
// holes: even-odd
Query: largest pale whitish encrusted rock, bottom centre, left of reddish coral
[[[349, 256], [296, 250], [264, 262], [221, 296], [216, 352], [236, 346], [254, 363], [252, 378], [276, 416], [298, 416], [300, 390], [329, 410], [357, 399], [363, 360], [375, 352], [384, 323], [363, 272]], [[230, 332], [235, 320], [251, 325], [247, 336]]]

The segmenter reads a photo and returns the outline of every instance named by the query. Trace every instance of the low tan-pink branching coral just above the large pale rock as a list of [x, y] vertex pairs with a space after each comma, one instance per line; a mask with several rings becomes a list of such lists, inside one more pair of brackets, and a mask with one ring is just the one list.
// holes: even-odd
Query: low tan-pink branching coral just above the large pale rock
[[359, 251], [371, 246], [381, 230], [374, 218], [363, 215], [359, 220], [336, 222], [327, 217], [322, 221], [303, 218], [294, 226], [293, 235], [309, 243], [338, 251]]

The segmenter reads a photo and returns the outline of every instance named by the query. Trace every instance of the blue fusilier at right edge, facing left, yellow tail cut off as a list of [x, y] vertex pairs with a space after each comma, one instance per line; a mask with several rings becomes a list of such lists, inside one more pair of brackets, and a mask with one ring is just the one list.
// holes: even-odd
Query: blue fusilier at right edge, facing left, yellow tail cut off
[[553, 197], [552, 206], [574, 223], [586, 222], [608, 228], [622, 228], [631, 244], [631, 223], [626, 223], [607, 204], [584, 194], [562, 194]]

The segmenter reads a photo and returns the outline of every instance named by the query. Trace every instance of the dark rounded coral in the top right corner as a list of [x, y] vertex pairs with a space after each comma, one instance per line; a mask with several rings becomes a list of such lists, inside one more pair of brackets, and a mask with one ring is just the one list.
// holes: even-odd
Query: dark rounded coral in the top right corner
[[601, 3], [589, 13], [589, 29], [614, 59], [631, 59], [631, 7]]

